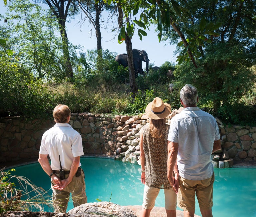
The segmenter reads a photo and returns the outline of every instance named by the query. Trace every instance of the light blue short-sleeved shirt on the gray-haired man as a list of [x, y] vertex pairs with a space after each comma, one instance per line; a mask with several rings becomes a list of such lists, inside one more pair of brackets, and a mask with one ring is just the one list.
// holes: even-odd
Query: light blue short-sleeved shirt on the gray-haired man
[[220, 139], [216, 119], [198, 107], [187, 107], [171, 119], [168, 141], [178, 143], [181, 177], [203, 180], [213, 174], [213, 142]]

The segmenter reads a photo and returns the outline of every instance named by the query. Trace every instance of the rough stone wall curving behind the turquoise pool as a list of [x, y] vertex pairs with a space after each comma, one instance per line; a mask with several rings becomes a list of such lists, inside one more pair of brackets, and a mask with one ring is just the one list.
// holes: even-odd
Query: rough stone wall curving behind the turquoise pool
[[[167, 124], [180, 110], [172, 111]], [[216, 120], [220, 128], [222, 150], [212, 155], [214, 166], [230, 167], [233, 161], [255, 162], [256, 127], [225, 126], [218, 118]], [[148, 122], [149, 118], [146, 115], [117, 115], [113, 118], [90, 113], [72, 113], [70, 125], [82, 136], [84, 154], [111, 155], [115, 160], [140, 164], [140, 130]], [[1, 165], [37, 159], [42, 135], [53, 125], [53, 120], [1, 118]]]

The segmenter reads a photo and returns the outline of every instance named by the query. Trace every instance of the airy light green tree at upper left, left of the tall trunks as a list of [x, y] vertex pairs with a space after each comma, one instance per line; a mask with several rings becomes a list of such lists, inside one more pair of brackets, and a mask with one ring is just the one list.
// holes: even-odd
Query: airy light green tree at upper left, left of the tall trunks
[[8, 4], [8, 24], [0, 28], [20, 63], [37, 78], [62, 79], [61, 40], [55, 36], [57, 25], [50, 12], [30, 1]]

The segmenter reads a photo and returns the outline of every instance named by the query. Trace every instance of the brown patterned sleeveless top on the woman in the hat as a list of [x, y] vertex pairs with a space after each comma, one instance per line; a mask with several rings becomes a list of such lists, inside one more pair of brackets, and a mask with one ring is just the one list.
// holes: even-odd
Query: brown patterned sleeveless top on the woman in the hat
[[161, 138], [153, 138], [150, 135], [149, 124], [143, 126], [143, 149], [145, 152], [145, 182], [147, 186], [165, 189], [171, 188], [167, 178], [167, 131]]

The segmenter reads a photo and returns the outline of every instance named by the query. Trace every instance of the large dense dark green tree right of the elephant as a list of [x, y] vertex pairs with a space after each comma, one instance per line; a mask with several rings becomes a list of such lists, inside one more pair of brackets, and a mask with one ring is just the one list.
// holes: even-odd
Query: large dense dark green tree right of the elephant
[[[254, 76], [250, 68], [256, 63], [256, 2], [207, 0], [202, 3], [191, 0], [180, 1], [180, 4], [187, 8], [191, 17], [179, 19], [178, 28], [184, 32], [187, 41], [192, 42], [194, 33], [198, 32], [201, 34], [199, 39], [205, 42], [194, 41], [197, 44], [194, 55], [197, 68], [190, 64], [183, 65], [178, 67], [175, 75], [182, 85], [196, 85], [209, 107], [212, 104], [213, 113], [216, 114], [220, 107], [228, 108], [239, 103], [241, 97], [252, 88]], [[221, 23], [215, 31], [217, 34], [203, 34], [214, 23]], [[180, 38], [173, 28], [166, 28], [164, 37], [171, 44]], [[181, 42], [178, 45], [178, 50], [186, 58], [185, 44]]]

